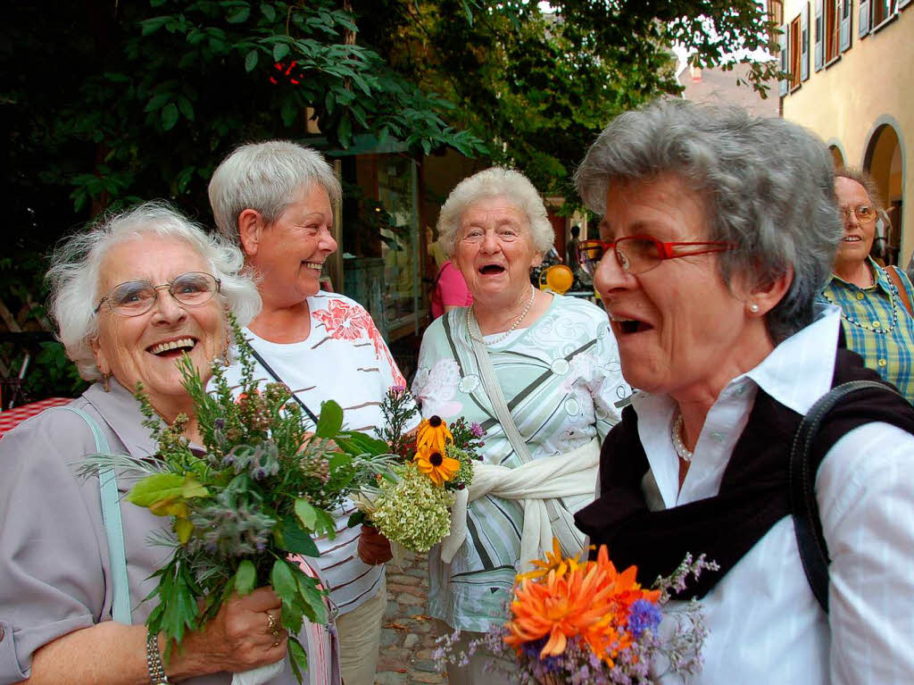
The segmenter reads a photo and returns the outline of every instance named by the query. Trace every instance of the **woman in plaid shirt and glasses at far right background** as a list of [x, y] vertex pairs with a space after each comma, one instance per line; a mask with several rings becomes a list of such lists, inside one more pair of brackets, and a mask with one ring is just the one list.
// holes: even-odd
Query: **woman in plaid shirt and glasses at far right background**
[[845, 232], [823, 296], [841, 307], [847, 347], [914, 401], [914, 292], [906, 273], [869, 256], [879, 201], [873, 179], [856, 169], [834, 175]]

